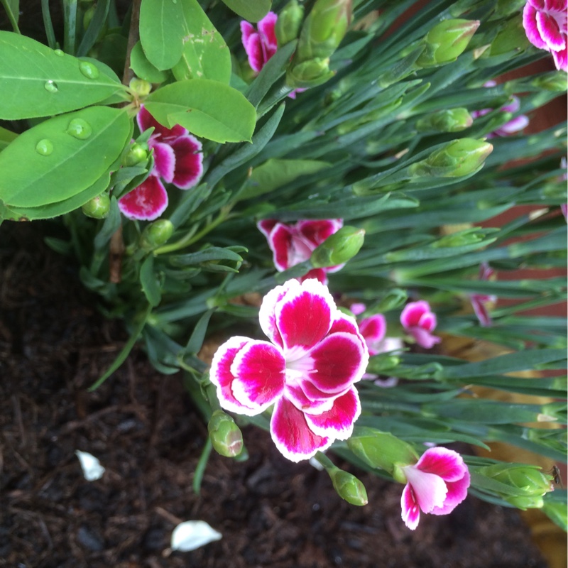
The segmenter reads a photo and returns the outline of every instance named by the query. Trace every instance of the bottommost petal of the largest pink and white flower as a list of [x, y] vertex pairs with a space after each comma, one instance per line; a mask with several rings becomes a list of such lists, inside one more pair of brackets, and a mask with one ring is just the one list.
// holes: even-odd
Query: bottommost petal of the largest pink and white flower
[[307, 425], [304, 413], [285, 397], [274, 405], [271, 436], [280, 453], [296, 462], [310, 459], [318, 450], [327, 449], [333, 442], [331, 438], [314, 434]]

